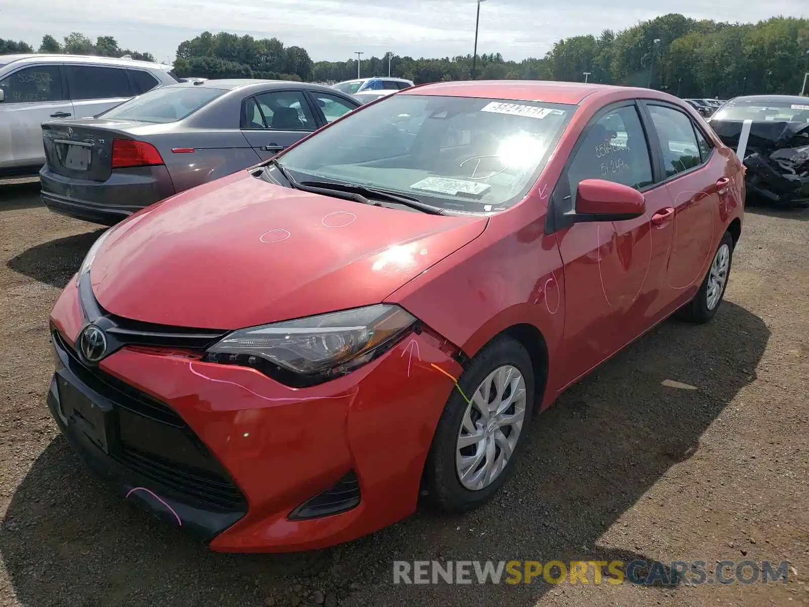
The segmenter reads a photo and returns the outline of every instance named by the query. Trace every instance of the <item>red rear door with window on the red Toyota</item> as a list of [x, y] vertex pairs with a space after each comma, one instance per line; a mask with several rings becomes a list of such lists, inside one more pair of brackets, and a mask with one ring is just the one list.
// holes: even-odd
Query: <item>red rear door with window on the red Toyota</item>
[[705, 275], [719, 235], [720, 195], [726, 193], [727, 160], [686, 112], [662, 101], [646, 101], [652, 145], [663, 164], [674, 207], [674, 239], [667, 262], [670, 296], [693, 295]]

